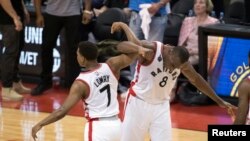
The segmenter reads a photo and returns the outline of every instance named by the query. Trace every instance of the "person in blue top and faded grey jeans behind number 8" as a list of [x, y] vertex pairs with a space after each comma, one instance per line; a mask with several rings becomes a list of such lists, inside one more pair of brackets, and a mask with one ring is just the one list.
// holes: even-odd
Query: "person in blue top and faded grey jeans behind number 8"
[[139, 12], [142, 10], [140, 6], [142, 4], [151, 4], [147, 10], [151, 17], [151, 22], [149, 23], [150, 30], [148, 33], [149, 41], [162, 41], [164, 29], [167, 22], [167, 12], [166, 4], [170, 0], [131, 0], [129, 1], [129, 8], [131, 9], [131, 19], [129, 27], [135, 32], [135, 35], [139, 39], [146, 39], [145, 33], [143, 33], [141, 28], [142, 17]]

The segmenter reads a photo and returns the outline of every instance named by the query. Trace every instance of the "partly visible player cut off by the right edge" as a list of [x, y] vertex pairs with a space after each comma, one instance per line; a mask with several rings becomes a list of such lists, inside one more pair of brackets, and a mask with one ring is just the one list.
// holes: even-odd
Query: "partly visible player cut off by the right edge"
[[[248, 64], [250, 66], [250, 50], [248, 52]], [[238, 88], [239, 103], [234, 124], [250, 125], [250, 69], [248, 77], [245, 78]]]

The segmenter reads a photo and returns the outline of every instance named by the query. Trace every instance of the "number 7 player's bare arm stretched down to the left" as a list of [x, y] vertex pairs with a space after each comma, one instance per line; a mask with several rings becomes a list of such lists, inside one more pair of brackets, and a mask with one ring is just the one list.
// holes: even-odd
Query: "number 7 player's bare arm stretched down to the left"
[[[86, 95], [86, 90], [87, 86], [84, 85], [80, 81], [75, 81], [71, 88], [70, 88], [70, 93], [67, 97], [67, 99], [64, 101], [63, 105], [51, 113], [48, 117], [44, 118], [42, 121], [37, 123], [33, 128], [32, 128], [32, 137], [34, 140], [37, 138], [37, 132], [45, 125], [51, 124], [53, 122], [56, 122], [60, 119], [62, 119], [68, 111], [79, 101], [81, 100], [84, 95]], [[83, 95], [84, 94], [84, 95]]]

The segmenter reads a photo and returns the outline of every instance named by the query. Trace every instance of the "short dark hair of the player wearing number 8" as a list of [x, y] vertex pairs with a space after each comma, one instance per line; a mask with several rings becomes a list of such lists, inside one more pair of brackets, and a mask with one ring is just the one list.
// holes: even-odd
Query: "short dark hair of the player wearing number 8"
[[185, 63], [189, 59], [189, 52], [186, 47], [176, 46], [173, 48], [173, 53], [180, 58], [180, 63]]

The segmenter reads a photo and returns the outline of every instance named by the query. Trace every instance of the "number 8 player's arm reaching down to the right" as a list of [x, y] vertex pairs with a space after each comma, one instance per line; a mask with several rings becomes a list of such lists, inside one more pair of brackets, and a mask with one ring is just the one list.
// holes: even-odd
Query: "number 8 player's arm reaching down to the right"
[[180, 69], [196, 88], [198, 88], [201, 92], [214, 100], [220, 107], [236, 109], [235, 106], [217, 96], [211, 86], [201, 77], [200, 74], [195, 71], [195, 69], [189, 62], [182, 64]]

